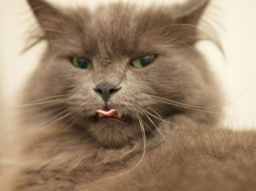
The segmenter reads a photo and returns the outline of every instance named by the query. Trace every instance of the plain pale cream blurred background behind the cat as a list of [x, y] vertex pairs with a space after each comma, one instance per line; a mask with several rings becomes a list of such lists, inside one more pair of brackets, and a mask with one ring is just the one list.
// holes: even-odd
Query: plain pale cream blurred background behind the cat
[[[82, 1], [93, 8], [99, 2], [106, 3], [109, 0], [48, 1], [66, 5]], [[176, 1], [178, 0], [136, 2], [146, 6], [150, 3], [168, 4]], [[216, 48], [207, 44], [201, 44], [200, 48], [208, 53], [207, 58], [225, 89], [225, 97], [221, 98], [227, 103], [224, 106], [224, 124], [232, 124], [235, 128], [251, 127], [256, 124], [256, 1], [213, 0], [213, 4], [219, 7], [213, 14], [214, 19], [225, 30], [220, 34], [226, 59], [223, 59]], [[45, 44], [41, 43], [25, 54], [19, 54], [27, 37], [26, 30], [32, 23], [35, 20], [25, 0], [0, 0], [0, 107], [18, 104], [19, 90], [29, 73], [37, 66], [44, 50]], [[5, 110], [1, 111], [0, 117], [3, 117]]]

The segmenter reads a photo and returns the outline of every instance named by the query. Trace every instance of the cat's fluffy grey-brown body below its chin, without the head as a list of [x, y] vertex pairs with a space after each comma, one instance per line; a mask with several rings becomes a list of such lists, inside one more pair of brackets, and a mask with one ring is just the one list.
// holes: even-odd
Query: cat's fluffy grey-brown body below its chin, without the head
[[254, 191], [256, 188], [255, 130], [188, 126], [169, 134], [167, 141], [154, 149], [146, 149], [143, 158], [143, 149], [124, 157], [126, 152], [132, 152], [131, 145], [105, 150], [88, 144], [76, 133], [50, 134], [30, 140], [30, 150], [26, 150], [29, 157], [18, 160], [22, 168], [8, 182], [11, 186], [18, 185], [14, 190]]

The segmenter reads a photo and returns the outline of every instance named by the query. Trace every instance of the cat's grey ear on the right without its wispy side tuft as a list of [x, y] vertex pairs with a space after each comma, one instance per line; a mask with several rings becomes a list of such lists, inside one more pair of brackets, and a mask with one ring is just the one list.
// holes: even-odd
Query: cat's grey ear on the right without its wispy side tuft
[[211, 0], [187, 0], [176, 4], [173, 9], [173, 18], [184, 24], [197, 25], [206, 7]]

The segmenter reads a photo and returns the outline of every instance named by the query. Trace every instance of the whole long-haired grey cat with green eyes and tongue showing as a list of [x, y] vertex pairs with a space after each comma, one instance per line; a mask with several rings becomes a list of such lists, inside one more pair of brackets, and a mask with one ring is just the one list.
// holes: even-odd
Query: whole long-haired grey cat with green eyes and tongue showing
[[222, 90], [195, 47], [219, 45], [198, 27], [210, 0], [93, 11], [27, 2], [47, 48], [21, 94], [19, 165], [5, 190], [256, 187], [256, 133], [218, 128]]

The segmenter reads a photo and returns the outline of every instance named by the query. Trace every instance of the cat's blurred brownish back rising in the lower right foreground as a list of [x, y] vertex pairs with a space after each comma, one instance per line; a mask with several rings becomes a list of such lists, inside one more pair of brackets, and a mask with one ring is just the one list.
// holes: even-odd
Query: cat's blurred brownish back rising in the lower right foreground
[[[148, 152], [131, 172], [86, 188], [249, 191], [256, 188], [255, 177], [255, 130], [202, 127], [171, 135], [168, 142]], [[85, 187], [80, 188], [82, 191]]]

